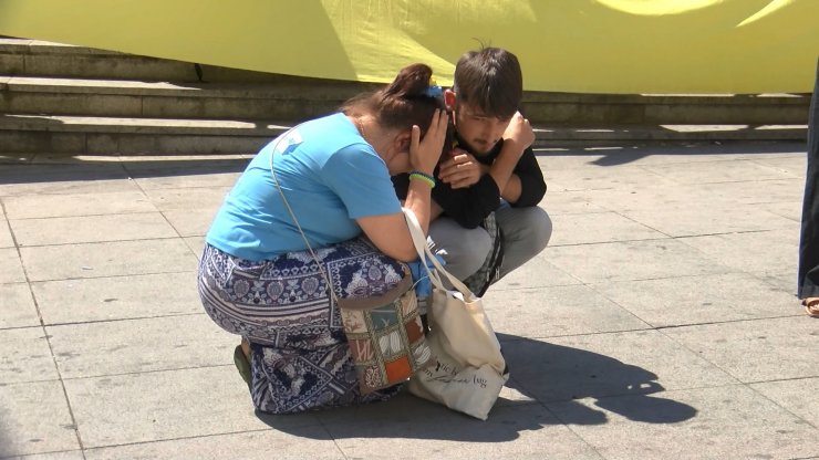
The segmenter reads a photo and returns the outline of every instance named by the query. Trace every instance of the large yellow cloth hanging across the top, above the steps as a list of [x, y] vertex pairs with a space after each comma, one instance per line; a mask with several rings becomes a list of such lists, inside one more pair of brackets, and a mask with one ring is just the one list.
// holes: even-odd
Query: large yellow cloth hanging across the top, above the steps
[[442, 84], [480, 41], [530, 91], [809, 93], [819, 0], [0, 0], [0, 34], [373, 82], [426, 62]]

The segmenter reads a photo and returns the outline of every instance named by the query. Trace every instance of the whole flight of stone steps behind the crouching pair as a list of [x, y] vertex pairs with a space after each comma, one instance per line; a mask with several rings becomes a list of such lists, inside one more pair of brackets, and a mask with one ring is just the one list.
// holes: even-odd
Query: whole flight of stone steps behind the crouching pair
[[[0, 153], [248, 154], [375, 85], [0, 38]], [[527, 93], [540, 147], [804, 140], [809, 95]]]

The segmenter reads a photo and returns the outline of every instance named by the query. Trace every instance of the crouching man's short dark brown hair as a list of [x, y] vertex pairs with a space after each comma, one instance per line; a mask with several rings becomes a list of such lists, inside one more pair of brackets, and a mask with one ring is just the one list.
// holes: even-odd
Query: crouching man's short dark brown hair
[[469, 51], [455, 65], [453, 90], [458, 102], [480, 108], [484, 115], [509, 118], [523, 96], [518, 58], [500, 48]]

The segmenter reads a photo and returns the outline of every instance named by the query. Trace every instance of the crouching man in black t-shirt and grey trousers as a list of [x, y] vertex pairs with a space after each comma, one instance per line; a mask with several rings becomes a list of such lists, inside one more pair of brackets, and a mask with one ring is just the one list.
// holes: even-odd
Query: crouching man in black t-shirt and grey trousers
[[[518, 112], [522, 92], [517, 56], [498, 48], [464, 54], [453, 90], [444, 92], [454, 143], [435, 170], [437, 218], [429, 224], [429, 243], [460, 280], [480, 270], [496, 249], [486, 226], [493, 213], [502, 239], [499, 276], [537, 255], [551, 238], [551, 220], [538, 207], [546, 182], [531, 149], [535, 133]], [[393, 181], [403, 198], [406, 177]]]

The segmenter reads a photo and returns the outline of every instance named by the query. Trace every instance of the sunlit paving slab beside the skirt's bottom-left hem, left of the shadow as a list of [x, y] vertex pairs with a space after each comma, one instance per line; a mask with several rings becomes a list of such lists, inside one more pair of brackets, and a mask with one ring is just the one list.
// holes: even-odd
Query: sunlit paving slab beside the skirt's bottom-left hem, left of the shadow
[[[247, 385], [230, 366], [66, 379], [85, 448], [257, 431]], [[317, 426], [312, 414], [289, 427]]]

